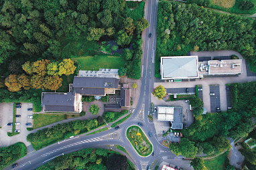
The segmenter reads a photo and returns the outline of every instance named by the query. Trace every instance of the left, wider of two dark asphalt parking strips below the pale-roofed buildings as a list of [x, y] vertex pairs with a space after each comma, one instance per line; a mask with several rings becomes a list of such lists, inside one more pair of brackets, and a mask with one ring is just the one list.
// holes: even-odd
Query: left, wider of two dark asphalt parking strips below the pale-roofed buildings
[[210, 112], [216, 112], [216, 107], [220, 107], [220, 87], [218, 85], [210, 85]]

